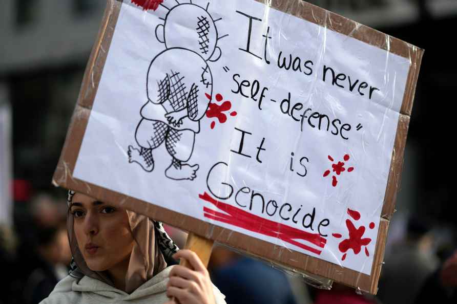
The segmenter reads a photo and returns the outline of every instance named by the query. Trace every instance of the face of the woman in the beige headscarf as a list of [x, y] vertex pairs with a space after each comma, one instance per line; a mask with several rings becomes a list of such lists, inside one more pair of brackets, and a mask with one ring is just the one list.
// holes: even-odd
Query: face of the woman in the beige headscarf
[[134, 240], [125, 209], [76, 193], [70, 212], [79, 251], [92, 271], [110, 270], [129, 259]]

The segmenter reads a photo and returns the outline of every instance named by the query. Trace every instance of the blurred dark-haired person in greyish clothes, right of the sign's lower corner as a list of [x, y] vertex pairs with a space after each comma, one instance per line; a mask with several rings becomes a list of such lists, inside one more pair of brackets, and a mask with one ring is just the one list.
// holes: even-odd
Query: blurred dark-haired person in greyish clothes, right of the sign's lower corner
[[378, 297], [385, 304], [412, 304], [425, 279], [438, 268], [433, 236], [426, 220], [412, 216], [407, 237], [385, 258]]

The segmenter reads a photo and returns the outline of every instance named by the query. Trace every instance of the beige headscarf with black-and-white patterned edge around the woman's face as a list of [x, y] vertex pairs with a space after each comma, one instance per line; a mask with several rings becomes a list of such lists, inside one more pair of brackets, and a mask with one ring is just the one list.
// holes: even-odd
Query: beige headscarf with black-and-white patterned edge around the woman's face
[[[68, 206], [70, 206], [74, 191], [68, 192]], [[86, 264], [79, 251], [74, 232], [74, 216], [68, 210], [67, 229], [73, 260], [70, 275], [81, 278], [87, 275], [114, 286], [107, 273], [92, 271]], [[126, 292], [132, 293], [147, 280], [167, 267], [163, 254], [170, 257], [178, 247], [174, 244], [160, 222], [153, 221], [147, 216], [127, 210], [130, 229], [135, 241], [130, 255], [129, 268], [126, 275]]]

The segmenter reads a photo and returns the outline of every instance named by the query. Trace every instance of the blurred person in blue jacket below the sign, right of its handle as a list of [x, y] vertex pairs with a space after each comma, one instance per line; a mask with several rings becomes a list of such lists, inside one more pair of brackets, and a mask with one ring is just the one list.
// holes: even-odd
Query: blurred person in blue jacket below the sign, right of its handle
[[209, 269], [228, 304], [296, 303], [285, 274], [259, 260], [216, 246]]

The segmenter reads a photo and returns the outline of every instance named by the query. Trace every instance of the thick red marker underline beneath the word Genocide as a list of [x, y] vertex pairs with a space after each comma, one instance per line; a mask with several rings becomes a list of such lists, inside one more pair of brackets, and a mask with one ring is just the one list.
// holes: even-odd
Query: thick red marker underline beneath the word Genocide
[[205, 218], [234, 225], [263, 235], [276, 237], [279, 238], [279, 240], [318, 255], [321, 254], [321, 250], [304, 245], [295, 240], [304, 240], [321, 248], [324, 248], [327, 243], [326, 238], [322, 237], [319, 233], [309, 233], [281, 223], [266, 220], [258, 215], [246, 212], [235, 206], [217, 201], [206, 192], [204, 192], [204, 194], [199, 194], [198, 197], [228, 213], [221, 213], [210, 208], [203, 207]]

